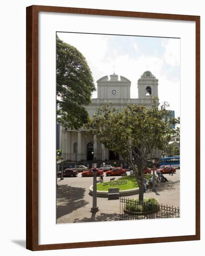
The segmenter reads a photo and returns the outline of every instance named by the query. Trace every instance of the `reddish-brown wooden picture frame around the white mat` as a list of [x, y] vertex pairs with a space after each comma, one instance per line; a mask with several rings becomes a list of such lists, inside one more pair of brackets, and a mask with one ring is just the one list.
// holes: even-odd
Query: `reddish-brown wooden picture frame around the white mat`
[[[133, 18], [187, 20], [196, 24], [196, 234], [80, 243], [38, 244], [38, 13], [76, 13]], [[26, 8], [26, 248], [69, 249], [141, 243], [200, 240], [200, 16], [128, 11], [30, 6]]]

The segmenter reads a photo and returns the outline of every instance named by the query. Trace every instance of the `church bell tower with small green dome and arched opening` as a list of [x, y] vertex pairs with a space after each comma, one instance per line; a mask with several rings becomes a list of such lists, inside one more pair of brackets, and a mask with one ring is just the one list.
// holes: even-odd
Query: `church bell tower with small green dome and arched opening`
[[158, 79], [148, 70], [138, 79], [137, 88], [140, 99], [146, 99], [150, 95], [158, 97]]

